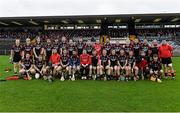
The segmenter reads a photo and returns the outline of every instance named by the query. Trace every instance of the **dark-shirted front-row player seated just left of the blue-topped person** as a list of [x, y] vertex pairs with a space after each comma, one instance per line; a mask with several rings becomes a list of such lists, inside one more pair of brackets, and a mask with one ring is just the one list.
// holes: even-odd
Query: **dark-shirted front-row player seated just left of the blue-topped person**
[[67, 50], [63, 50], [63, 54], [61, 56], [61, 81], [64, 81], [64, 78], [67, 79], [69, 76], [69, 56], [67, 55]]

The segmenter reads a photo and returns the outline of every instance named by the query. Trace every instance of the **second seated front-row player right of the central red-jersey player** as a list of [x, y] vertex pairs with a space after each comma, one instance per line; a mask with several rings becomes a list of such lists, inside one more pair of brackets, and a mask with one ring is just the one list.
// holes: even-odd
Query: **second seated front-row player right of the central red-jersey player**
[[[100, 78], [104, 77], [104, 80], [110, 78], [110, 61], [107, 55], [106, 49], [103, 49], [102, 55], [100, 57]], [[107, 76], [107, 77], [106, 77]]]

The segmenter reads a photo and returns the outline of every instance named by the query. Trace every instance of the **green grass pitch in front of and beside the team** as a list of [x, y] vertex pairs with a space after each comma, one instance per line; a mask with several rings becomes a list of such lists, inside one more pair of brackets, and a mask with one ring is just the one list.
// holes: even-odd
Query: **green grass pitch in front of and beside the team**
[[[180, 58], [173, 58], [176, 80], [145, 81], [64, 81], [43, 80], [0, 82], [0, 112], [124, 112], [180, 111]], [[1, 78], [9, 64], [0, 56]]]

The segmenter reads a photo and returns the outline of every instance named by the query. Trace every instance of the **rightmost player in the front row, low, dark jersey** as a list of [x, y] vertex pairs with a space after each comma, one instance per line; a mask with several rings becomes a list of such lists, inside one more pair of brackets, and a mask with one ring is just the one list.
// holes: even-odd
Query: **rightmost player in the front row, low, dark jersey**
[[163, 73], [161, 63], [158, 61], [158, 56], [156, 54], [153, 55], [153, 61], [150, 63], [150, 79], [152, 81], [161, 82], [161, 76]]

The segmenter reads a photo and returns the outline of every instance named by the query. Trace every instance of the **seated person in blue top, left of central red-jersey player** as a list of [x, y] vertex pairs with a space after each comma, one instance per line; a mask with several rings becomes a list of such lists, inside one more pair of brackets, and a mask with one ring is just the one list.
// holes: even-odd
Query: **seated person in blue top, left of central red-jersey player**
[[80, 65], [79, 56], [77, 55], [76, 51], [73, 51], [73, 55], [70, 58], [70, 66], [69, 66], [69, 75], [72, 75], [70, 76], [70, 79], [72, 81], [75, 80], [75, 73], [79, 72], [80, 70], [79, 65]]

